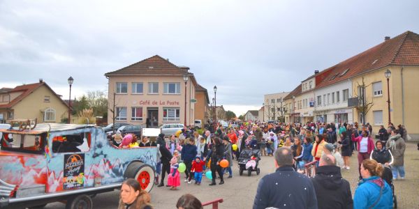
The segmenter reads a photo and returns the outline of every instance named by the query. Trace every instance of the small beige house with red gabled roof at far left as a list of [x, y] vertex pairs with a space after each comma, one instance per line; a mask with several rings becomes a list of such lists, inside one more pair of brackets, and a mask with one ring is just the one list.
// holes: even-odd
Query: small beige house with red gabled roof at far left
[[0, 123], [17, 118], [61, 123], [61, 119], [68, 118], [68, 105], [42, 80], [15, 88], [1, 88]]

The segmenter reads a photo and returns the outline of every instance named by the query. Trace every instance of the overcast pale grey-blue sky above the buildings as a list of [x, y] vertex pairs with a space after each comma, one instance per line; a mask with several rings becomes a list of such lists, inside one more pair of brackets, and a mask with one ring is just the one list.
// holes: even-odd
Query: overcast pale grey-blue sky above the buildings
[[[405, 31], [413, 1], [3, 1], [0, 88], [44, 79], [68, 98], [106, 91], [105, 72], [159, 54], [186, 65], [217, 104], [260, 108], [263, 95]], [[73, 98], [73, 97], [72, 97]]]

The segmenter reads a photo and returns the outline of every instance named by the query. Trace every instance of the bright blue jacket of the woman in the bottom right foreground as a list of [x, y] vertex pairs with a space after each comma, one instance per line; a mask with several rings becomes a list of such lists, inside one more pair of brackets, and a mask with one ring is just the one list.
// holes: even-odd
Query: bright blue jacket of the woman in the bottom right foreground
[[358, 189], [355, 190], [355, 196], [353, 196], [353, 208], [370, 208], [380, 196], [381, 185], [383, 185], [383, 192], [374, 208], [392, 208], [391, 187], [378, 176], [364, 178], [358, 184]]

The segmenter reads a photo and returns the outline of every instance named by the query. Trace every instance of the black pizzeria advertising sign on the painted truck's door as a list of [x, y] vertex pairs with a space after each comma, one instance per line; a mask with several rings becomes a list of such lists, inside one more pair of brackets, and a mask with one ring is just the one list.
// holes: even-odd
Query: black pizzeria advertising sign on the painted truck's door
[[84, 187], [84, 154], [64, 155], [63, 189]]

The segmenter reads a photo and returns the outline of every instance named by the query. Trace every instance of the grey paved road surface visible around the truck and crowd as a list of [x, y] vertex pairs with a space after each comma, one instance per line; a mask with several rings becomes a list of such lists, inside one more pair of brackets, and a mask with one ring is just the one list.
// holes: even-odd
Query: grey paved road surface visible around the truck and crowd
[[[395, 192], [399, 201], [399, 208], [419, 208], [418, 162], [419, 150], [416, 149], [416, 144], [408, 143], [405, 157], [406, 180], [395, 181]], [[251, 208], [258, 186], [258, 180], [265, 174], [273, 171], [273, 157], [262, 158], [260, 161], [260, 176], [256, 176], [254, 172], [251, 176], [239, 176], [237, 163], [235, 163], [233, 164], [234, 177], [226, 179], [224, 185], [210, 187], [208, 185], [210, 180], [203, 178], [203, 184], [200, 186], [188, 185], [182, 181], [177, 191], [172, 191], [168, 187], [154, 187], [151, 192], [152, 203], [154, 208], [175, 208], [179, 196], [190, 193], [197, 196], [203, 202], [223, 198], [224, 202], [219, 205], [219, 208]], [[354, 193], [358, 179], [358, 160], [356, 159], [356, 155], [351, 157], [351, 170], [342, 171], [342, 175], [351, 183], [351, 189]], [[218, 182], [219, 180], [217, 180]], [[117, 208], [118, 197], [118, 191], [99, 194], [94, 198], [94, 208]], [[62, 203], [50, 203], [45, 208], [64, 209], [65, 206]]]

